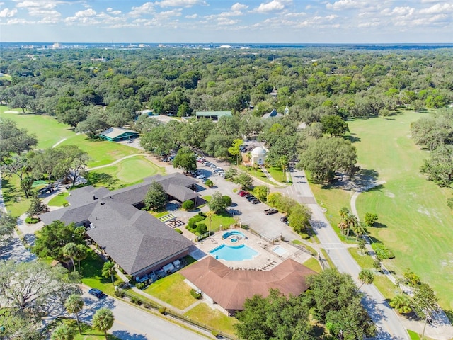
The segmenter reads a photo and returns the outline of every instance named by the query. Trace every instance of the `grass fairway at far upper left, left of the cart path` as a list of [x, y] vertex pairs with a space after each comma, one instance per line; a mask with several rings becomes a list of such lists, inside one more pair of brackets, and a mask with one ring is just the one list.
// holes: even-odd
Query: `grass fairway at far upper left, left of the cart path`
[[[20, 113], [5, 113], [5, 111], [18, 111]], [[24, 115], [20, 108], [11, 109], [0, 106], [0, 117], [14, 120], [18, 128], [25, 128], [29, 134], [38, 137], [38, 149], [52, 147], [63, 138], [74, 137], [76, 133], [67, 124], [58, 123], [55, 117], [48, 115]]]

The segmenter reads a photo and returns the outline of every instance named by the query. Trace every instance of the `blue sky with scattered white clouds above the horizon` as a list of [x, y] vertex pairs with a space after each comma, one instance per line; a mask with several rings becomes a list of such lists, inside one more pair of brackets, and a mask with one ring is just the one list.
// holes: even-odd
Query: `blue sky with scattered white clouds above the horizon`
[[2, 42], [453, 42], [452, 0], [0, 0]]

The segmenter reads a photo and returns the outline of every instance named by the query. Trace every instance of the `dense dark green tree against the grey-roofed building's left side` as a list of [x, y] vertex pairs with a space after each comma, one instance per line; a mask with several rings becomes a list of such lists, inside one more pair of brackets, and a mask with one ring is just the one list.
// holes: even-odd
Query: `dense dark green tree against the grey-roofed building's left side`
[[66, 244], [84, 244], [85, 227], [76, 227], [74, 223], [64, 225], [61, 221], [54, 221], [45, 225], [35, 240], [32, 250], [35, 254], [43, 257], [52, 257], [58, 261], [64, 261], [63, 248]]

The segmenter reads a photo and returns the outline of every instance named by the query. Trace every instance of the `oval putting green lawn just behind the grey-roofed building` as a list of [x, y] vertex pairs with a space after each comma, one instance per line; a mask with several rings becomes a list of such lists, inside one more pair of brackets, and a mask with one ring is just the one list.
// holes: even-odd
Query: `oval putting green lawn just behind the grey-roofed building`
[[149, 162], [144, 156], [123, 159], [121, 162], [105, 168], [90, 171], [91, 183], [109, 189], [130, 186], [142, 181], [143, 178], [155, 174], [164, 174], [165, 169]]

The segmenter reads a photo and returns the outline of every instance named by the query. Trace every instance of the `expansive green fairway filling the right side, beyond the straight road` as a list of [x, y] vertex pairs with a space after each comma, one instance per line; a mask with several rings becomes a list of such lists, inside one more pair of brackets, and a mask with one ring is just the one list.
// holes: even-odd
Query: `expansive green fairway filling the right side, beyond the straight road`
[[[377, 171], [384, 185], [361, 193], [357, 211], [377, 213], [380, 227], [369, 228], [372, 237], [384, 242], [396, 255], [384, 261], [401, 276], [411, 268], [429, 283], [440, 305], [453, 309], [453, 215], [447, 207], [450, 189], [426, 181], [419, 169], [428, 152], [410, 138], [410, 125], [426, 113], [403, 112], [391, 119], [373, 118], [349, 123], [362, 169]], [[338, 210], [350, 207], [350, 192], [314, 188], [319, 203], [328, 208], [333, 225]]]

